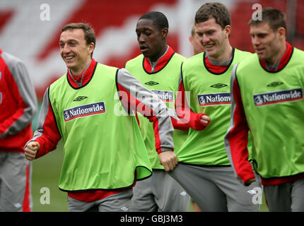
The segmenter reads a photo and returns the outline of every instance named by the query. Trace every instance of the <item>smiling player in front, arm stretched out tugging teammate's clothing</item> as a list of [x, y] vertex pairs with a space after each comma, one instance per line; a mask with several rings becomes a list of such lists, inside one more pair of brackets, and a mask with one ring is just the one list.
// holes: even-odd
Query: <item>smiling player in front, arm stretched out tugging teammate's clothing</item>
[[95, 33], [89, 25], [64, 26], [59, 47], [67, 73], [45, 91], [25, 157], [49, 153], [62, 138], [59, 189], [68, 193], [69, 211], [128, 211], [132, 186], [151, 176], [151, 164], [136, 118], [127, 113], [138, 108], [153, 122], [159, 161], [170, 168], [176, 160], [168, 156], [174, 148], [168, 110], [126, 69], [92, 58]]

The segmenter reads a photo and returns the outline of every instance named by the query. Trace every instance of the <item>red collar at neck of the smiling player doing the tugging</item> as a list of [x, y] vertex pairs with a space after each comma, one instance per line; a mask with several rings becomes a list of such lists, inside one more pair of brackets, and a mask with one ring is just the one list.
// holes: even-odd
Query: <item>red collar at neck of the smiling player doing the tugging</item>
[[[90, 65], [88, 66], [88, 69], [83, 70], [85, 72], [83, 74], [82, 83], [81, 83], [81, 77], [82, 76], [77, 76], [76, 77], [68, 69], [67, 78], [68, 78], [69, 83], [71, 84], [71, 86], [73, 88], [79, 88], [79, 87], [82, 87], [83, 85], [86, 85], [90, 81], [90, 78], [92, 78], [92, 76], [93, 76], [96, 64], [97, 64], [97, 62], [92, 58], [92, 61], [90, 61]], [[78, 84], [71, 77], [73, 77], [74, 80], [76, 80], [78, 83], [81, 83], [81, 86], [78, 86]]]

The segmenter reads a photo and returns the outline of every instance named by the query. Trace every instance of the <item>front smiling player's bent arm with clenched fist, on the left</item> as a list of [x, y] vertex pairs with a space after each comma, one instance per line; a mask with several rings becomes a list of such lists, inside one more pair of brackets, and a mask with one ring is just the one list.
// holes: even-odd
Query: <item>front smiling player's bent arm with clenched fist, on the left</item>
[[25, 157], [28, 160], [33, 160], [46, 155], [57, 147], [57, 143], [61, 138], [54, 112], [49, 102], [49, 88], [47, 88], [41, 105], [39, 124], [33, 138], [26, 143], [24, 148]]

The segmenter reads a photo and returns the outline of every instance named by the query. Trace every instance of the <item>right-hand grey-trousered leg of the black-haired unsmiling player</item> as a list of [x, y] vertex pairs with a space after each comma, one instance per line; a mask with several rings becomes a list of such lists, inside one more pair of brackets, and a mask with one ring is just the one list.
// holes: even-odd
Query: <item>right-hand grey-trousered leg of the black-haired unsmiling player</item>
[[187, 212], [190, 196], [163, 169], [153, 170], [153, 194], [159, 212]]

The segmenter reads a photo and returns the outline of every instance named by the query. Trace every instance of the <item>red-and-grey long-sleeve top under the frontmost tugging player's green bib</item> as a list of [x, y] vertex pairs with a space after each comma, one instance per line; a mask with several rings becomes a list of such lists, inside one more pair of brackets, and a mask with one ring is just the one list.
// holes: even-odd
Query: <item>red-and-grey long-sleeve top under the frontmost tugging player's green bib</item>
[[[73, 76], [73, 74], [71, 73], [71, 71], [68, 70], [67, 72], [67, 79], [68, 82], [71, 86], [73, 86], [74, 88], [81, 88], [84, 85], [86, 85], [87, 83], [90, 82], [90, 78], [92, 78], [93, 73], [95, 72], [95, 66], [98, 63], [95, 62], [94, 59], [92, 59], [92, 61], [90, 62], [90, 65], [88, 66], [88, 69], [86, 69], [85, 71], [83, 71], [83, 76], [78, 76], [75, 77]], [[130, 85], [137, 85], [140, 84], [139, 81], [137, 81], [138, 83], [136, 83], [135, 78], [133, 78], [130, 75], [127, 75], [127, 71], [123, 71], [124, 69], [119, 69], [119, 71], [122, 70], [122, 72], [118, 72], [117, 73], [117, 92], [118, 94], [122, 97], [121, 98], [121, 102], [122, 105], [124, 107], [124, 109], [126, 109], [127, 112], [131, 112], [137, 109], [138, 105], [144, 106], [143, 108], [139, 108], [142, 109], [143, 112], [142, 114], [146, 115], [146, 117], [150, 120], [153, 121], [153, 127], [156, 133], [156, 150], [158, 153], [165, 151], [165, 150], [173, 150], [173, 141], [170, 143], [166, 142], [163, 138], [163, 136], [160, 136], [160, 132], [163, 132], [162, 127], [165, 124], [168, 124], [168, 121], [163, 121], [161, 116], [157, 116], [156, 114], [162, 114], [162, 110], [165, 110], [165, 105], [163, 104], [163, 108], [159, 108], [158, 110], [160, 110], [160, 112], [153, 112], [154, 109], [151, 109], [150, 107], [148, 107], [148, 105], [144, 105], [143, 102], [141, 101], [145, 101], [144, 99], [139, 100], [138, 98], [136, 99], [136, 97], [134, 97], [131, 92], [130, 92], [130, 88], [128, 86], [128, 84]], [[81, 83], [82, 81], [82, 83]], [[131, 81], [131, 82], [130, 82]], [[78, 83], [81, 83], [80, 85], [78, 85]], [[148, 95], [150, 95], [151, 91], [146, 90], [146, 88], [138, 85], [136, 86], [136, 90], [139, 90], [139, 92], [147, 94], [146, 98], [149, 98]], [[47, 89], [48, 91], [48, 89]], [[59, 140], [61, 139], [61, 135], [59, 133], [59, 130], [57, 129], [57, 124], [56, 124], [56, 119], [54, 117], [54, 113], [52, 111], [52, 106], [51, 103], [49, 102], [49, 95], [48, 92], [46, 91], [45, 93], [45, 97], [44, 97], [44, 101], [42, 103], [42, 108], [41, 108], [41, 112], [40, 112], [40, 126], [38, 126], [37, 131], [34, 134], [34, 141], [37, 141], [38, 143], [40, 143], [40, 150], [38, 150], [37, 155], [35, 156], [35, 158], [37, 157], [41, 157], [42, 155], [47, 154], [49, 151], [54, 150], [57, 146], [57, 143], [59, 142]], [[149, 93], [147, 93], [149, 92]], [[127, 94], [127, 98], [123, 97], [123, 95]], [[151, 93], [153, 94], [153, 93]], [[158, 102], [156, 101], [156, 95], [155, 100], [151, 99], [151, 103], [154, 104], [153, 105], [158, 105]], [[148, 100], [148, 99], [147, 99]], [[158, 99], [157, 99], [158, 100]], [[155, 106], [154, 106], [155, 107]], [[146, 112], [149, 112], [149, 114], [145, 114]], [[160, 117], [160, 118], [158, 118]], [[162, 120], [162, 121], [159, 121]], [[158, 123], [159, 122], [159, 123]], [[165, 128], [168, 129], [168, 126], [166, 126]], [[171, 126], [172, 131], [173, 131], [173, 127]], [[167, 130], [166, 130], [167, 132]], [[37, 134], [37, 136], [36, 136]], [[120, 190], [120, 191], [77, 191], [77, 192], [69, 192], [68, 195], [71, 196], [72, 198], [76, 198], [78, 200], [81, 201], [95, 201], [101, 198], [105, 198], [111, 194], [115, 194], [118, 192], [121, 192], [124, 190]]]

